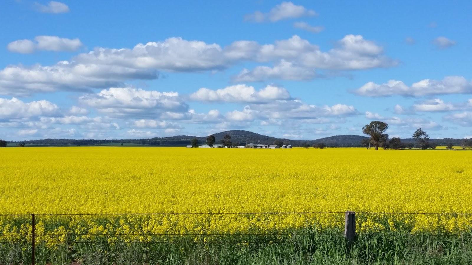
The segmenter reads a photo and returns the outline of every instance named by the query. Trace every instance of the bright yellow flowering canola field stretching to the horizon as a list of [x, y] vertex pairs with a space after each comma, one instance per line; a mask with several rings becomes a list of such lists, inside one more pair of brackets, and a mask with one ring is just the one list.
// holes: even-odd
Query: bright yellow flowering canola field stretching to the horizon
[[[0, 217], [9, 240], [31, 232], [31, 213], [38, 234], [81, 240], [342, 229], [346, 210], [358, 213], [358, 232], [472, 227], [469, 151], [2, 148], [0, 161], [0, 214], [17, 214]], [[132, 213], [181, 215], [41, 215]]]

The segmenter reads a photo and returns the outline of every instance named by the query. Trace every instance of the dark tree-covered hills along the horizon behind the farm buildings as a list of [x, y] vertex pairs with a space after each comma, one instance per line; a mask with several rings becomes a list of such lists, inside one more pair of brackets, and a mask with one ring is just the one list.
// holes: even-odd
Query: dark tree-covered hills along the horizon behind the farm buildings
[[[312, 145], [314, 143], [325, 143], [328, 147], [361, 147], [362, 139], [367, 137], [361, 135], [334, 135], [316, 140], [292, 140], [286, 138], [276, 138], [267, 135], [262, 135], [255, 132], [249, 132], [244, 130], [231, 130], [225, 132], [214, 133], [216, 143], [220, 143], [223, 137], [229, 134], [231, 135], [231, 141], [233, 144], [246, 145], [247, 143], [261, 143], [261, 144], [273, 144], [274, 141], [281, 141], [284, 144], [291, 144], [293, 146], [302, 146], [305, 143]], [[150, 139], [115, 139], [115, 140], [94, 140], [94, 139], [42, 139], [42, 140], [30, 140], [30, 141], [10, 141], [8, 146], [16, 146], [20, 142], [25, 143], [26, 146], [47, 146], [48, 141], [51, 146], [83, 146], [83, 145], [95, 145], [95, 146], [119, 146], [123, 143], [126, 146], [186, 146], [190, 144], [190, 141], [197, 138], [200, 144], [205, 143], [206, 137], [190, 136], [190, 135], [176, 135], [169, 137], [154, 137]], [[460, 145], [461, 139], [430, 139], [431, 143], [436, 145], [447, 145], [452, 143], [454, 145]], [[414, 139], [402, 139], [402, 142], [414, 142]]]

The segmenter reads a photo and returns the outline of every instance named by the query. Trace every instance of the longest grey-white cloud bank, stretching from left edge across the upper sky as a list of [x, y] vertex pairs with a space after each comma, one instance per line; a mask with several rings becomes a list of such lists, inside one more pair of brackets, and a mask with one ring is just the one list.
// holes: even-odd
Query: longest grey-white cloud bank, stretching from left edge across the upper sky
[[[28, 45], [17, 50], [27, 51]], [[61, 44], [51, 45], [59, 49]], [[105, 49], [82, 53], [52, 66], [7, 66], [0, 70], [0, 94], [25, 96], [38, 92], [87, 91], [123, 86], [127, 80], [158, 78], [158, 71], [199, 72], [228, 68], [240, 62], [273, 63], [273, 67], [244, 70], [236, 80], [267, 78], [306, 80], [314, 69], [356, 70], [395, 66], [382, 47], [361, 35], [346, 35], [337, 47], [321, 51], [293, 36], [274, 44], [235, 41], [222, 48], [203, 41], [169, 38], [138, 44], [133, 49]]]

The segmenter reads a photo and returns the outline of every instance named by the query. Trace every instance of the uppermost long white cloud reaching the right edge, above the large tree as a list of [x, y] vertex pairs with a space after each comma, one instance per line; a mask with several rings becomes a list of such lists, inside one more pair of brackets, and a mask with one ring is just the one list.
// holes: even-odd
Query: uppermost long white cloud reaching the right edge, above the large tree
[[463, 76], [446, 76], [443, 80], [424, 79], [411, 86], [407, 86], [402, 81], [389, 80], [383, 84], [366, 83], [355, 93], [367, 97], [469, 94], [472, 93], [472, 82], [467, 81]]

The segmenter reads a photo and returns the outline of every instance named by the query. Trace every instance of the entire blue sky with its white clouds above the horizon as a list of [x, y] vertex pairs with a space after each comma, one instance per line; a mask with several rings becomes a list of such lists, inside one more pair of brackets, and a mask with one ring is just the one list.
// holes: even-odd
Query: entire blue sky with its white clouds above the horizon
[[0, 138], [472, 137], [470, 1], [0, 5]]

